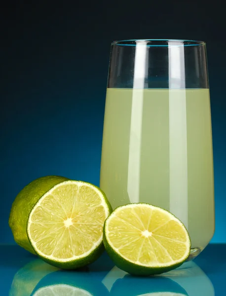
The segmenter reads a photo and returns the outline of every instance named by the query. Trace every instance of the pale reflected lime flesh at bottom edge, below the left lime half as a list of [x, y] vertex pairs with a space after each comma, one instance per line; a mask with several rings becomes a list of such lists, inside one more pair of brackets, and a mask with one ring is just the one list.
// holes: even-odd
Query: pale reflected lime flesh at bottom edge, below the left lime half
[[89, 292], [69, 285], [52, 285], [39, 289], [34, 296], [92, 296]]

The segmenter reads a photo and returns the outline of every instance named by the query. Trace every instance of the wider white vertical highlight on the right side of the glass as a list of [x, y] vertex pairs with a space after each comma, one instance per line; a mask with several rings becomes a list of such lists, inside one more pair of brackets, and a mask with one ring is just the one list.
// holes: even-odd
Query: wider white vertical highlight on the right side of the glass
[[[188, 153], [183, 42], [169, 42], [170, 212], [188, 229]], [[178, 46], [175, 46], [178, 45]], [[172, 89], [172, 90], [171, 90]], [[176, 91], [175, 89], [180, 89]], [[184, 89], [184, 92], [183, 92]]]

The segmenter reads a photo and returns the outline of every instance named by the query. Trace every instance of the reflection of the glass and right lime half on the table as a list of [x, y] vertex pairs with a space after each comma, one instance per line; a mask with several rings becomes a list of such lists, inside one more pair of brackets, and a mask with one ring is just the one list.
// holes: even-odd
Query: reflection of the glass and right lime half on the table
[[161, 276], [134, 277], [116, 266], [102, 283], [111, 296], [214, 296], [212, 282], [203, 270], [189, 261]]

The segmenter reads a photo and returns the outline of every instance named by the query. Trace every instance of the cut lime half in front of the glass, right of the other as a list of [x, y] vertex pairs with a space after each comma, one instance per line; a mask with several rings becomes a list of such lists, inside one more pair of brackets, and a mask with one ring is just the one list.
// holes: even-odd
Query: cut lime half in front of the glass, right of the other
[[116, 266], [135, 275], [167, 272], [190, 254], [184, 224], [168, 211], [145, 203], [113, 211], [104, 225], [104, 245]]

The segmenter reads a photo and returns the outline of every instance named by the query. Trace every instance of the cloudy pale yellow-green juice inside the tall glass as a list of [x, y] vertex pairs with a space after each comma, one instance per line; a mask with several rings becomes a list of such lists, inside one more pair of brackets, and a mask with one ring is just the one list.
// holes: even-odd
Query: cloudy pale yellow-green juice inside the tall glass
[[100, 187], [113, 209], [170, 211], [194, 253], [205, 248], [215, 227], [209, 89], [107, 89]]

